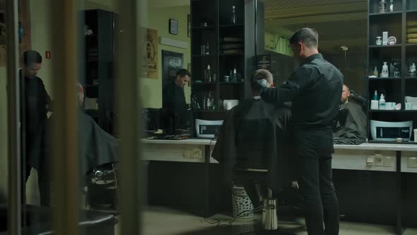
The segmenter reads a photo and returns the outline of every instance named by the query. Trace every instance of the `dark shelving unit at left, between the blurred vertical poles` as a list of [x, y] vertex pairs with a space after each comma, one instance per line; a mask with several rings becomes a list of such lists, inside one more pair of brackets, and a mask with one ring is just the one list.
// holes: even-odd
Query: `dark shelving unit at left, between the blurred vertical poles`
[[[109, 132], [113, 132], [114, 110], [114, 86], [113, 86], [113, 61], [114, 61], [114, 21], [115, 14], [103, 10], [81, 11], [85, 21], [81, 25], [93, 31], [93, 34], [84, 35], [81, 44], [85, 55], [81, 63], [82, 71], [85, 71], [83, 84], [86, 98], [95, 98], [98, 110], [85, 110], [85, 113], [93, 117], [98, 125]], [[83, 21], [81, 21], [83, 22]]]

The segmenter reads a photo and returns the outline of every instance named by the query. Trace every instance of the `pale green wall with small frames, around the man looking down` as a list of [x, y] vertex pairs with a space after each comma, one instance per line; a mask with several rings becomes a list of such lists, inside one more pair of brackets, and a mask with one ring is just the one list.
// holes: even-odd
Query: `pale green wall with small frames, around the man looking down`
[[[166, 45], [158, 45], [158, 63], [162, 65], [162, 50], [169, 50], [172, 52], [179, 52], [184, 54], [184, 68], [187, 69], [187, 64], [191, 62], [191, 38], [187, 37], [187, 14], [189, 13], [189, 6], [174, 6], [174, 7], [155, 7], [148, 6], [148, 21], [143, 25], [146, 28], [158, 30], [158, 37], [171, 38], [188, 42], [189, 49], [184, 50], [177, 47], [170, 47]], [[178, 20], [178, 35], [171, 35], [168, 33], [168, 21], [170, 18]], [[143, 107], [146, 108], [162, 108], [162, 72], [158, 73], [157, 79], [141, 79], [141, 97], [143, 98]], [[184, 87], [185, 97], [189, 103], [191, 96], [191, 88]]]

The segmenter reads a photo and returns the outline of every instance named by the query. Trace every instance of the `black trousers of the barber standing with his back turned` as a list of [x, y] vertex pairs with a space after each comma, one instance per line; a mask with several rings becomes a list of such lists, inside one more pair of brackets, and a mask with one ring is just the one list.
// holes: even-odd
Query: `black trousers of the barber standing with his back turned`
[[339, 234], [339, 202], [331, 181], [333, 133], [331, 130], [298, 130], [294, 134], [307, 233]]

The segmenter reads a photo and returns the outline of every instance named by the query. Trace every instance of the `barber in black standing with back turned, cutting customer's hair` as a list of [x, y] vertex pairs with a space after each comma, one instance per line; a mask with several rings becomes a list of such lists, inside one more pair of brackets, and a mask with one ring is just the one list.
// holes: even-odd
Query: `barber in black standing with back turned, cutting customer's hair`
[[280, 87], [264, 88], [262, 99], [293, 102], [298, 183], [307, 232], [334, 235], [339, 234], [339, 202], [331, 180], [332, 131], [339, 112], [343, 74], [319, 54], [318, 40], [319, 35], [311, 28], [294, 33], [290, 45], [300, 67]]

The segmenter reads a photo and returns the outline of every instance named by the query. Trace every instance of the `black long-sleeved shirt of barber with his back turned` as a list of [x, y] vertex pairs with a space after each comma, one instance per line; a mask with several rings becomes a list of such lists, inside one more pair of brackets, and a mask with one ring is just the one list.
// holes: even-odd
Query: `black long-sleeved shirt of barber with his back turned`
[[343, 74], [321, 54], [307, 57], [290, 79], [262, 91], [269, 103], [292, 101], [295, 129], [331, 127], [339, 112]]

